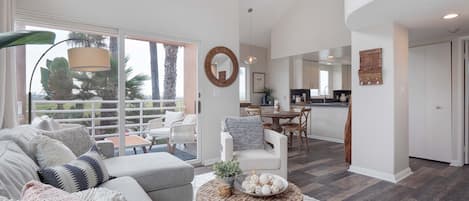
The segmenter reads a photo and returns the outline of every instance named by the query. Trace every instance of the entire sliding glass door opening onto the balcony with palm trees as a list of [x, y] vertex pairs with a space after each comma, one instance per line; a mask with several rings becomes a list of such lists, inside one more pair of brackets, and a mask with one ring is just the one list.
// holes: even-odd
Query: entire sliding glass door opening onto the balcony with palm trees
[[[72, 26], [17, 23], [18, 30], [51, 31], [56, 34], [56, 43], [63, 42], [47, 52], [34, 72], [31, 116], [47, 115], [59, 123], [81, 124], [97, 141], [107, 139], [119, 145], [125, 144], [129, 135], [149, 137], [152, 139], [150, 152], [167, 152], [168, 137], [157, 139], [151, 136], [149, 121], [158, 122], [166, 111], [183, 112], [185, 117], [189, 117], [187, 121], [190, 123], [186, 126], [191, 126], [191, 129], [175, 131], [184, 136], [171, 138], [176, 136], [174, 134], [169, 137], [177, 144], [171, 149], [176, 157], [197, 162], [200, 157], [200, 144], [196, 140], [200, 136], [196, 135], [197, 45], [137, 37], [118, 38], [115, 32], [83, 32], [69, 27]], [[64, 41], [70, 38], [84, 40]], [[125, 44], [125, 55], [118, 54], [120, 40]], [[18, 87], [18, 108], [28, 109], [29, 78], [37, 59], [50, 47], [29, 45], [17, 48], [19, 86], [25, 86]], [[111, 69], [102, 72], [72, 71], [67, 56], [67, 50], [72, 47], [109, 50]], [[120, 59], [124, 61], [122, 64], [118, 62]], [[124, 75], [118, 76], [119, 72]], [[124, 87], [125, 93], [118, 93], [119, 87]], [[124, 100], [124, 105], [121, 106], [119, 100]], [[21, 114], [28, 113], [19, 111]], [[27, 116], [22, 119], [22, 123], [27, 123]], [[155, 125], [160, 124], [152, 124]], [[125, 139], [123, 142], [120, 141], [122, 138]], [[115, 146], [118, 147], [116, 153], [118, 151], [119, 155], [145, 152], [145, 149]]]

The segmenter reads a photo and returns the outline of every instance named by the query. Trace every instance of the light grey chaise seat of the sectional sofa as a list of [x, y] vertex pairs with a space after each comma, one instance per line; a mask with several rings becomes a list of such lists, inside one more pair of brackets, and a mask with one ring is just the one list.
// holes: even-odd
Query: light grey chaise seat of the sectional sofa
[[131, 176], [146, 192], [181, 186], [194, 179], [194, 168], [168, 153], [148, 153], [105, 159], [112, 176]]

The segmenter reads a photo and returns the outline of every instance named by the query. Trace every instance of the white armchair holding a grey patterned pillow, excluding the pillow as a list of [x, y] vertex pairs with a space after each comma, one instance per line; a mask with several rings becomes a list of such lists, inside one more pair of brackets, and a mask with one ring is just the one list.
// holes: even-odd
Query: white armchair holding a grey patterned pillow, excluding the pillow
[[228, 132], [222, 132], [221, 160], [229, 161], [236, 158], [244, 172], [255, 170], [256, 172], [276, 174], [287, 179], [287, 137], [275, 131], [264, 129], [264, 139], [273, 145], [273, 148], [233, 151], [233, 137]]

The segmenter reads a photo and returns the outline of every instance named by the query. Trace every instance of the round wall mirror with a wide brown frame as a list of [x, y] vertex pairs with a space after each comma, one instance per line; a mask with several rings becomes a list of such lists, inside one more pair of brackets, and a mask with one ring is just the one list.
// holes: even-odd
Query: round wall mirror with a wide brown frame
[[215, 47], [205, 57], [205, 74], [215, 86], [230, 86], [236, 81], [238, 72], [238, 59], [226, 47]]

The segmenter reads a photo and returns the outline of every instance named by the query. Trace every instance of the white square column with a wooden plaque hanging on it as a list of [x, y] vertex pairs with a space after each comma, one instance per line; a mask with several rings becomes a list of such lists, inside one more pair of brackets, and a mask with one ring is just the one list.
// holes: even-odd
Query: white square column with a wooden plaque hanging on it
[[[359, 51], [383, 48], [383, 85], [360, 86]], [[381, 25], [352, 32], [353, 172], [396, 182], [410, 174], [407, 30]]]

